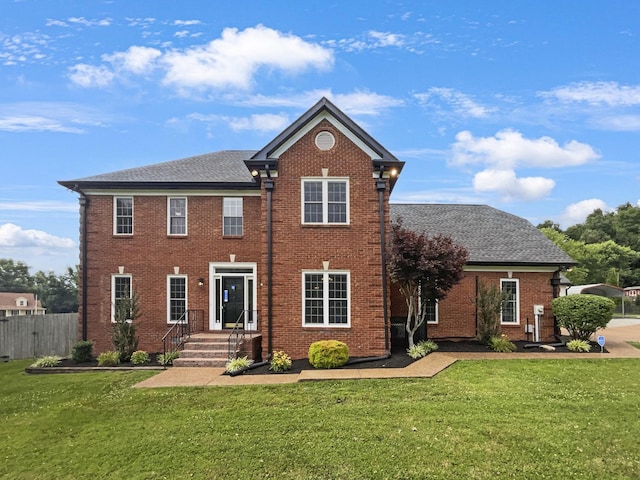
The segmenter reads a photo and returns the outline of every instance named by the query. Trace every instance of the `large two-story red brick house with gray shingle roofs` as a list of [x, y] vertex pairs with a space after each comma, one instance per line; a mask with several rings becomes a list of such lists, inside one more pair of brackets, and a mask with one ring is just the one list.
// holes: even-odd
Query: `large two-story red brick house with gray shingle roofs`
[[526, 338], [538, 304], [550, 337], [550, 302], [572, 260], [525, 220], [489, 207], [390, 206], [403, 165], [323, 98], [259, 151], [61, 181], [80, 195], [80, 336], [110, 349], [113, 305], [135, 292], [145, 350], [161, 350], [185, 312], [202, 312], [205, 331], [239, 322], [265, 353], [302, 358], [312, 342], [337, 339], [353, 357], [382, 355], [404, 308], [383, 261], [390, 210], [433, 234], [449, 233], [446, 212], [465, 209], [450, 233], [471, 258], [430, 332], [472, 337], [475, 279], [484, 278], [511, 294], [503, 326], [513, 339]]

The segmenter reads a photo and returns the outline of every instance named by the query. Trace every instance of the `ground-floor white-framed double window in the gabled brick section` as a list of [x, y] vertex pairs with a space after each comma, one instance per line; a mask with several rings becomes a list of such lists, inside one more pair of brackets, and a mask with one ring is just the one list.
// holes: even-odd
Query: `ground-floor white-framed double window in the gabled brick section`
[[304, 326], [350, 326], [348, 272], [305, 272], [302, 280]]

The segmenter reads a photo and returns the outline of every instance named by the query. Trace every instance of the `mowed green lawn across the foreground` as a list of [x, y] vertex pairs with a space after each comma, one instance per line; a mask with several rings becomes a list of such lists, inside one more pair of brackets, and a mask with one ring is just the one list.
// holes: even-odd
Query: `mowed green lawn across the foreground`
[[433, 379], [134, 389], [0, 364], [2, 479], [638, 478], [640, 360]]

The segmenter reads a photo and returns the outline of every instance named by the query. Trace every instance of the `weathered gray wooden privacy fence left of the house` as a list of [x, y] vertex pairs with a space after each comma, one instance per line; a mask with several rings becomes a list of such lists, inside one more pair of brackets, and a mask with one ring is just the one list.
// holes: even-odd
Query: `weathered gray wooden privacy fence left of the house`
[[78, 314], [0, 317], [0, 357], [67, 357], [78, 341]]

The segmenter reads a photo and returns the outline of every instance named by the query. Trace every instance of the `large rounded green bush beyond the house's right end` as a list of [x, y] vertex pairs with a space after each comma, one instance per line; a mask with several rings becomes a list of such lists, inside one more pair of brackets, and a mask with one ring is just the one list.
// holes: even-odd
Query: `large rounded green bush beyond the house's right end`
[[598, 295], [567, 295], [554, 298], [551, 309], [560, 327], [566, 328], [573, 340], [589, 340], [599, 328], [605, 328], [616, 304]]

